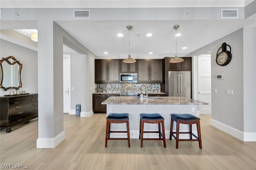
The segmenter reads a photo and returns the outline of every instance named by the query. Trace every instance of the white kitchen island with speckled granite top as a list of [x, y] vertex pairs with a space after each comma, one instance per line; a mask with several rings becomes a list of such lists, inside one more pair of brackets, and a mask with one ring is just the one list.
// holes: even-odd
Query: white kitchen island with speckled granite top
[[[148, 99], [140, 100], [137, 96], [115, 96], [106, 99], [102, 104], [107, 105], [107, 116], [110, 113], [129, 113], [130, 138], [139, 138], [140, 113], [161, 114], [164, 117], [165, 135], [166, 138], [169, 138], [170, 115], [172, 113], [189, 113], [198, 116], [198, 105], [208, 103], [184, 97], [148, 97]], [[124, 123], [111, 124], [111, 129], [124, 131], [126, 129], [126, 125]], [[144, 125], [144, 130], [146, 131], [153, 131], [157, 129], [157, 124], [146, 123]], [[196, 132], [196, 125], [193, 125], [192, 129]], [[174, 130], [176, 130], [176, 122], [174, 122]], [[181, 125], [180, 131], [188, 131], [188, 126]], [[111, 137], [122, 137], [122, 133], [110, 135]], [[126, 137], [126, 134], [123, 134], [123, 137]], [[158, 134], [148, 133], [145, 134], [145, 137], [158, 137]]]

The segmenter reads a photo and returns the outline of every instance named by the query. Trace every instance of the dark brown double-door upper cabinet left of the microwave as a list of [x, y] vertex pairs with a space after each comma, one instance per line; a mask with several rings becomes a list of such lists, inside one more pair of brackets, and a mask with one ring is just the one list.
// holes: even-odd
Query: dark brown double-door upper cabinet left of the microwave
[[120, 83], [120, 60], [96, 59], [95, 83]]

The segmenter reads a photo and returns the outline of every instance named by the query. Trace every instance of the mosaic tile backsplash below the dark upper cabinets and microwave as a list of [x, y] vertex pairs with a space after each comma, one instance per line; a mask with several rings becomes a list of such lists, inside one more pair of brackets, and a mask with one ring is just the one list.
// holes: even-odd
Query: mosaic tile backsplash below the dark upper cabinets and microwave
[[[148, 92], [160, 92], [160, 84], [144, 84], [148, 88]], [[102, 88], [106, 92], [122, 92], [122, 91], [136, 91], [140, 93], [141, 84], [137, 83], [110, 83], [110, 84], [96, 84], [96, 88]]]

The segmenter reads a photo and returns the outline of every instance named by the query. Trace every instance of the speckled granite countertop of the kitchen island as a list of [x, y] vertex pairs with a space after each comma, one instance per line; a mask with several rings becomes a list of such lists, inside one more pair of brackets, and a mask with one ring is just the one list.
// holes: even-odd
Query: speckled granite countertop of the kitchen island
[[140, 104], [140, 105], [207, 105], [206, 102], [188, 99], [184, 97], [148, 97], [148, 100], [140, 100], [137, 96], [111, 96], [101, 104]]

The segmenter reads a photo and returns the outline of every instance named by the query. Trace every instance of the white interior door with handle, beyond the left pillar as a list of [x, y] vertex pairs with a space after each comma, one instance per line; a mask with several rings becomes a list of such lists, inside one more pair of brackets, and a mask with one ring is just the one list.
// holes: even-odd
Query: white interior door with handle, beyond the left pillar
[[71, 114], [71, 68], [70, 55], [63, 55], [63, 111]]

